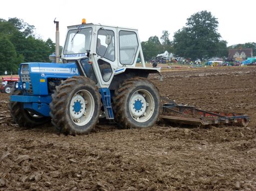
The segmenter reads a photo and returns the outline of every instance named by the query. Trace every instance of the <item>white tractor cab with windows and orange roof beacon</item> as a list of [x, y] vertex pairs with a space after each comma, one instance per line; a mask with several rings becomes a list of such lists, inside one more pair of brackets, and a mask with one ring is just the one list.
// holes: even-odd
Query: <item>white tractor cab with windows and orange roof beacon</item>
[[[136, 67], [138, 57], [140, 67]], [[68, 26], [61, 58], [64, 63], [77, 60], [78, 68], [83, 68], [79, 73], [95, 81], [100, 88], [116, 89], [116, 80], [160, 73], [159, 68], [145, 66], [138, 30], [85, 24], [84, 19], [82, 25]], [[117, 75], [120, 73], [125, 75]]]

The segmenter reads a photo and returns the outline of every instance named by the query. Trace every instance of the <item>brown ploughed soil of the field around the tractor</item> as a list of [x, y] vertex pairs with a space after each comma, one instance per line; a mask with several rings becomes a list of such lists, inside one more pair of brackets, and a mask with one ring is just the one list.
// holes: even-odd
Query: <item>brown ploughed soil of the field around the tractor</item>
[[248, 114], [247, 127], [157, 124], [90, 135], [11, 121], [0, 94], [0, 190], [256, 190], [256, 67], [163, 72], [161, 96], [211, 111]]

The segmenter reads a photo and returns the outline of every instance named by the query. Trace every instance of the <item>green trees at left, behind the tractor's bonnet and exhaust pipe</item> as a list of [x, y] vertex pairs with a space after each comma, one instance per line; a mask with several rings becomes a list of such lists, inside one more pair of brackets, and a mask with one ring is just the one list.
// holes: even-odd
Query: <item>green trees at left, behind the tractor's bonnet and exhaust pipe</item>
[[53, 52], [55, 43], [37, 38], [35, 26], [23, 19], [0, 18], [0, 75], [5, 71], [17, 74], [22, 62], [48, 62]]

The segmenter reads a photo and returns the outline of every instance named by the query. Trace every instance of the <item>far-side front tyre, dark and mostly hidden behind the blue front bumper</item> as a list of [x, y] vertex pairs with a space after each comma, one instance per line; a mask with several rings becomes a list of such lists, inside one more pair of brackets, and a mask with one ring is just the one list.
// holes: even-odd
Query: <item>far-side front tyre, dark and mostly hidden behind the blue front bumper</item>
[[[12, 95], [21, 95], [22, 91], [11, 89]], [[9, 102], [12, 119], [21, 127], [35, 128], [50, 122], [50, 117], [38, 116], [23, 108], [22, 102]]]

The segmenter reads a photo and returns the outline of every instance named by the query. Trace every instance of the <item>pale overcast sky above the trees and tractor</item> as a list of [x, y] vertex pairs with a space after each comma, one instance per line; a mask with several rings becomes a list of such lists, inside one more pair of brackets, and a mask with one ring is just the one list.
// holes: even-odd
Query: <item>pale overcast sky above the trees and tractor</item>
[[4, 0], [0, 18], [21, 18], [36, 27], [37, 36], [55, 41], [57, 17], [60, 45], [64, 45], [66, 26], [87, 23], [132, 27], [139, 30], [140, 41], [160, 36], [163, 30], [173, 34], [186, 24], [186, 19], [199, 11], [210, 11], [218, 19], [218, 32], [228, 46], [256, 42], [255, 0]]

